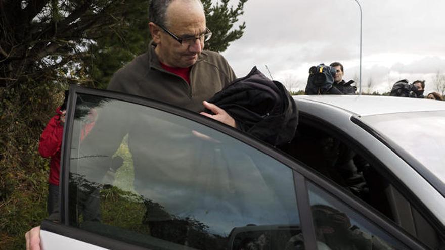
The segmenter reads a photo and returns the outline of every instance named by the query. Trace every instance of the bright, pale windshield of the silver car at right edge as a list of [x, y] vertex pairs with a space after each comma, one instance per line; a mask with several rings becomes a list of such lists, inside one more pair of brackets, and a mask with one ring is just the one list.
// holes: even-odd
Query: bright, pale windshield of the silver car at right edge
[[445, 183], [444, 111], [394, 113], [362, 119]]

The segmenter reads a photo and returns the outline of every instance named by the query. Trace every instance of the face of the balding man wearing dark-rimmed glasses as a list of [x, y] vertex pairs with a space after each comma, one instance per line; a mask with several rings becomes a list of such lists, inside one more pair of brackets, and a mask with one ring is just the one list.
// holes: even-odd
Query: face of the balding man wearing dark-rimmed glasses
[[[198, 37], [206, 31], [204, 11], [197, 1], [173, 1], [167, 8], [165, 26], [180, 39]], [[203, 40], [197, 39], [194, 44], [183, 46], [159, 29], [153, 39], [157, 44], [155, 51], [159, 60], [171, 67], [187, 68], [194, 65], [204, 48]]]

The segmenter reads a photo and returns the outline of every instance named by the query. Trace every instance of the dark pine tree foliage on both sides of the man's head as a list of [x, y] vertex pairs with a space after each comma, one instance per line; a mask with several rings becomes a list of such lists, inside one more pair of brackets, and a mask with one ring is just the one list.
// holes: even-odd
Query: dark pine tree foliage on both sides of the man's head
[[[204, 0], [212, 39], [225, 51], [245, 23], [233, 29], [244, 3]], [[148, 0], [0, 1], [0, 87], [26, 79], [106, 86], [112, 73], [143, 53], [149, 38]]]

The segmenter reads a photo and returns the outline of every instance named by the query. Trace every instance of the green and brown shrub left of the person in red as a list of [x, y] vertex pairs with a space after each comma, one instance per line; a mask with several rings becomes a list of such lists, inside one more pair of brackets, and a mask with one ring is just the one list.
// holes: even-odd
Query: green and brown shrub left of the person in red
[[0, 249], [24, 249], [25, 232], [47, 217], [38, 141], [62, 96], [63, 85], [33, 79], [0, 88]]

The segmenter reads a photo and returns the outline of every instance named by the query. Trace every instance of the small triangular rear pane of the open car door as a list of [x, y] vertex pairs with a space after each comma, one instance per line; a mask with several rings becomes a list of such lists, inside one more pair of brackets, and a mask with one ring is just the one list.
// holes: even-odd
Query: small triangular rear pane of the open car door
[[366, 218], [308, 183], [316, 237], [331, 249], [408, 249]]

